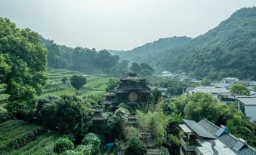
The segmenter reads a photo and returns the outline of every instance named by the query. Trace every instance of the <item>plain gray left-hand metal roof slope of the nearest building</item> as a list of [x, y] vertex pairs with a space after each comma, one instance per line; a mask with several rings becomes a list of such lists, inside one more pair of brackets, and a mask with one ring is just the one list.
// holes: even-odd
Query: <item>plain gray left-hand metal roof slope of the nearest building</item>
[[196, 132], [196, 134], [199, 135], [200, 137], [216, 139], [216, 136], [214, 136], [214, 134], [211, 134], [210, 132], [208, 132], [206, 129], [204, 129], [194, 120], [186, 120], [186, 119], [182, 119], [182, 120], [184, 121], [184, 123], [187, 124], [187, 126], [190, 127], [190, 129]]

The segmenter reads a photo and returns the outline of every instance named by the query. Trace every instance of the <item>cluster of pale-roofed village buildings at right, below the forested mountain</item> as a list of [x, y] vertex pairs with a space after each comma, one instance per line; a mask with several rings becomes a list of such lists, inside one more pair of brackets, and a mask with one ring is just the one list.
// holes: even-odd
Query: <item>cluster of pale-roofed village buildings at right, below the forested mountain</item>
[[[239, 94], [230, 93], [233, 84], [244, 84], [250, 90], [249, 96], [241, 96]], [[187, 88], [186, 93], [193, 94], [196, 92], [210, 93], [219, 102], [229, 105], [230, 102], [238, 102], [238, 108], [251, 121], [256, 120], [256, 92], [253, 86], [256, 81], [240, 81], [238, 78], [223, 78], [220, 82], [212, 82], [211, 86]]]

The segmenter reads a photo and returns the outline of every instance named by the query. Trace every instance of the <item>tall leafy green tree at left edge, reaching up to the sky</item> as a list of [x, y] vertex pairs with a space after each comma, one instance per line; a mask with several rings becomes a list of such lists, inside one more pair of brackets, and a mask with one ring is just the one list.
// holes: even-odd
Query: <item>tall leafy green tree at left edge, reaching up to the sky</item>
[[18, 29], [8, 19], [0, 18], [0, 81], [10, 96], [8, 110], [18, 117], [35, 111], [35, 93], [42, 92], [47, 79], [46, 53], [39, 35]]

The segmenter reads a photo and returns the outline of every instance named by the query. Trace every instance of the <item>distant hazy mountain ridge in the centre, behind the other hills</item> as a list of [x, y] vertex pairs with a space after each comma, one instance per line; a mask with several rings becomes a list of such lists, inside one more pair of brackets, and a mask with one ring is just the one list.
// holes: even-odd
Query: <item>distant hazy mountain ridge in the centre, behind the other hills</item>
[[162, 50], [168, 50], [180, 44], [190, 41], [192, 38], [188, 37], [171, 37], [160, 38], [152, 43], [144, 44], [143, 46], [136, 47], [133, 50], [108, 50], [113, 55], [119, 55], [120, 59], [128, 60], [129, 62], [150, 62], [150, 57], [154, 57]]

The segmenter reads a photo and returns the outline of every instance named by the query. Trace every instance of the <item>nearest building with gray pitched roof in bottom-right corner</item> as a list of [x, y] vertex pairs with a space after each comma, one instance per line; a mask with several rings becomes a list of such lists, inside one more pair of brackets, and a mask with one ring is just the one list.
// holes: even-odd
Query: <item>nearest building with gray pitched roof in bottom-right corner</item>
[[203, 119], [196, 123], [184, 120], [180, 128], [184, 136], [180, 138], [181, 155], [255, 155], [256, 150], [246, 141], [228, 132], [226, 126], [218, 127]]

